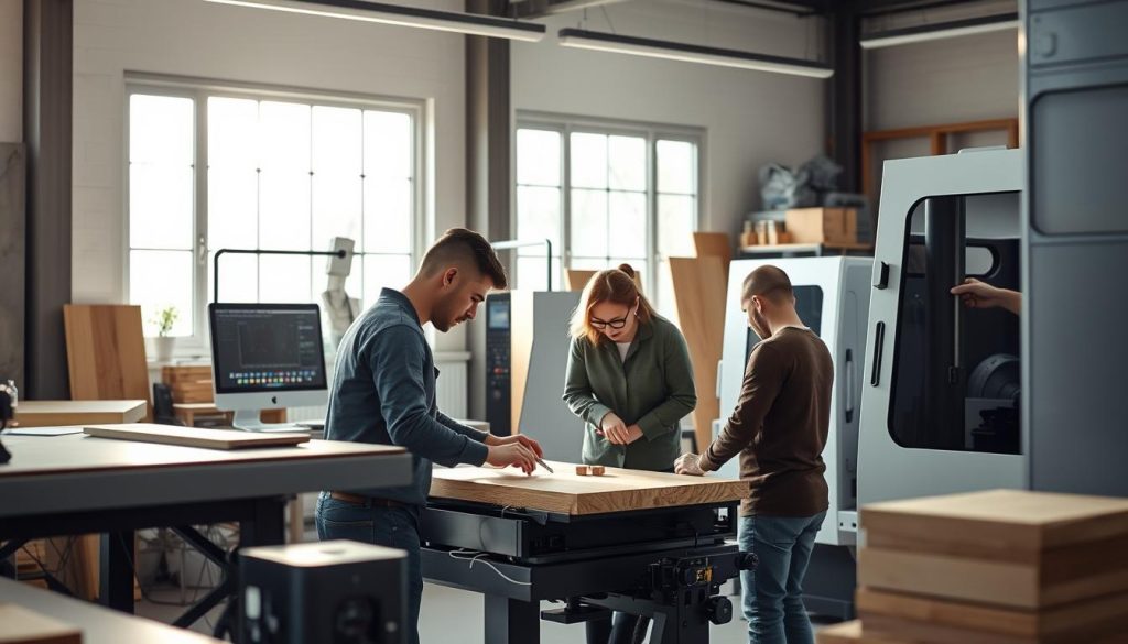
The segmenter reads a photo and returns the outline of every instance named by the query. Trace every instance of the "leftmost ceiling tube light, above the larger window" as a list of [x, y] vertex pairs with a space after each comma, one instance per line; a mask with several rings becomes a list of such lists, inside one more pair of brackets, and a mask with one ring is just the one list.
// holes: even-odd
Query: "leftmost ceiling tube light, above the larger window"
[[530, 43], [539, 42], [545, 37], [544, 25], [477, 14], [458, 14], [362, 0], [208, 0], [208, 2]]

